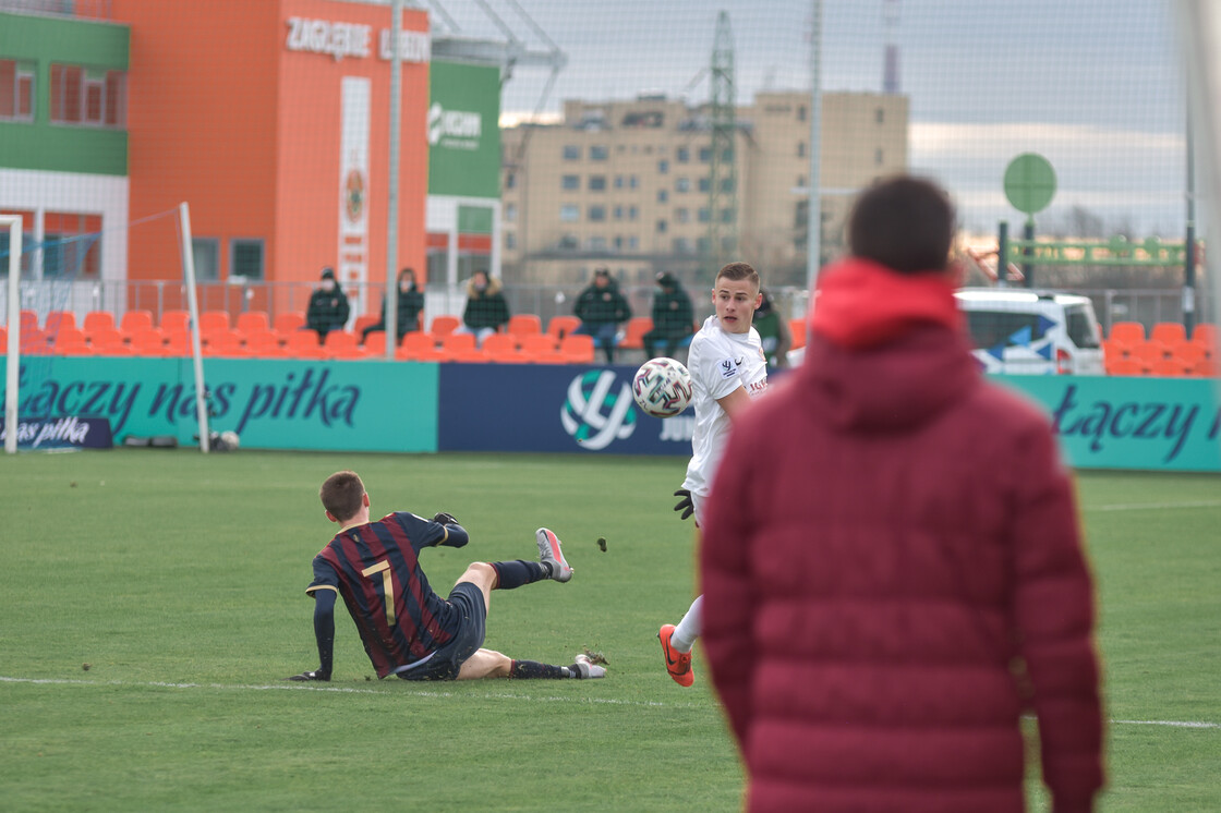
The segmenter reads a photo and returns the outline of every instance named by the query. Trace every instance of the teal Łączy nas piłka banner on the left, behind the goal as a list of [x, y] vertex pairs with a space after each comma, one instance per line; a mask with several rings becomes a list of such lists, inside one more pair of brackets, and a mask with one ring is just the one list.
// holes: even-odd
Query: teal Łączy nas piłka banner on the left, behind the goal
[[[435, 364], [205, 359], [204, 378], [210, 430], [232, 430], [245, 447], [437, 450]], [[23, 419], [107, 417], [116, 443], [173, 435], [190, 444], [198, 433], [189, 359], [32, 356], [18, 392]]]

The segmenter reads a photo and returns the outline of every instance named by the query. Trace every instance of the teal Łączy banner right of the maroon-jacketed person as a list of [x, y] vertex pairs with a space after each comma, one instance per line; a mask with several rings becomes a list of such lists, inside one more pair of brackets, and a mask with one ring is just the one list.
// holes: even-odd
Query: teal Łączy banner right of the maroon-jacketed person
[[1051, 415], [1079, 469], [1221, 471], [1217, 382], [1208, 378], [993, 376]]

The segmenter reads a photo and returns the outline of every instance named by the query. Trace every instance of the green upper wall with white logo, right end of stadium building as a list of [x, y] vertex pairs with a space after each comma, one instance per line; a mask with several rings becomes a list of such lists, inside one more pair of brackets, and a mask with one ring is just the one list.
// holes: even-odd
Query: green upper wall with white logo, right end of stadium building
[[429, 194], [501, 197], [501, 70], [432, 62]]

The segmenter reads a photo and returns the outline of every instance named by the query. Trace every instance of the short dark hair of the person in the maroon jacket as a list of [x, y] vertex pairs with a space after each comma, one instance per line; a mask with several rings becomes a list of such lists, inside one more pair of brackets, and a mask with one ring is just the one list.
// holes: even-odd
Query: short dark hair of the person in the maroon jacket
[[899, 273], [943, 271], [954, 242], [954, 204], [924, 178], [900, 176], [866, 189], [847, 222], [849, 248]]

